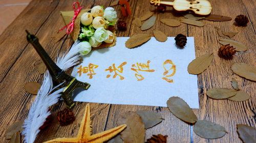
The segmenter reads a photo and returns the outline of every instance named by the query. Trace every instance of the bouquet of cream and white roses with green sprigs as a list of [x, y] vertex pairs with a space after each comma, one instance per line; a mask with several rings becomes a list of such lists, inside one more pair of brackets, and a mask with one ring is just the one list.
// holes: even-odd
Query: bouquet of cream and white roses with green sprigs
[[92, 47], [112, 47], [115, 45], [114, 26], [117, 22], [117, 14], [114, 8], [103, 9], [95, 6], [91, 11], [81, 15], [80, 33], [78, 40], [83, 49], [82, 55], [88, 54]]

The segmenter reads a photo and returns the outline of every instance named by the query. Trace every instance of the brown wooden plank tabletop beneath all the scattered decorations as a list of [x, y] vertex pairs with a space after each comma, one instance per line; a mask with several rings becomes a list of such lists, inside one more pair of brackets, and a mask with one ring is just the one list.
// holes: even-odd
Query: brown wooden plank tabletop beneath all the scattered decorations
[[[112, 1], [78, 1], [85, 8], [96, 5], [110, 6]], [[60, 11], [71, 11], [74, 1], [39, 1], [33, 0], [28, 7], [11, 23], [11, 25], [0, 36], [0, 140], [7, 142], [4, 133], [13, 122], [23, 121], [27, 118], [31, 101], [35, 96], [30, 95], [24, 89], [29, 81], [41, 83], [43, 75], [40, 75], [33, 66], [40, 59], [34, 48], [26, 41], [25, 29], [39, 37], [40, 42], [50, 56], [54, 59], [57, 53], [64, 52], [73, 44], [70, 36], [54, 43], [53, 34], [63, 25]], [[167, 36], [175, 37], [182, 33], [195, 38], [196, 56], [214, 52], [214, 60], [207, 70], [198, 75], [198, 89], [200, 109], [193, 109], [199, 120], [215, 122], [226, 128], [228, 134], [219, 139], [204, 139], [193, 133], [194, 142], [242, 142], [237, 133], [237, 124], [247, 124], [256, 127], [256, 97], [255, 82], [234, 74], [230, 66], [235, 62], [243, 62], [255, 66], [255, 13], [256, 1], [253, 0], [210, 0], [213, 6], [212, 14], [232, 17], [233, 19], [244, 14], [249, 17], [250, 22], [245, 27], [235, 26], [234, 20], [214, 22], [202, 20], [204, 27], [197, 27], [182, 23], [178, 27], [169, 27], [160, 23], [160, 18], [183, 19], [181, 14], [175, 13], [172, 8], [167, 8], [165, 13], [157, 13], [156, 24], [147, 31], [141, 32], [133, 23], [135, 17], [141, 16], [149, 9], [154, 8], [148, 1], [131, 1], [132, 15], [122, 17], [119, 6], [114, 6], [121, 20], [127, 22], [125, 32], [117, 31], [118, 37], [129, 37], [137, 33], [152, 34], [153, 30], [163, 31]], [[217, 55], [221, 46], [220, 38], [215, 26], [225, 31], [238, 32], [233, 37], [248, 46], [246, 53], [235, 55], [232, 60], [224, 60]], [[153, 34], [152, 34], [153, 36]], [[244, 102], [233, 102], [229, 100], [214, 100], [206, 96], [210, 88], [231, 88], [231, 79], [237, 78], [239, 86], [246, 91], [251, 98]], [[157, 94], [157, 93], [156, 93]], [[175, 95], [170, 95], [175, 96]], [[189, 96], [189, 95], [187, 95]], [[53, 106], [53, 122], [50, 127], [42, 130], [36, 142], [42, 142], [56, 137], [74, 137], [77, 135], [79, 123], [87, 103], [77, 102], [73, 111], [76, 120], [72, 125], [60, 127], [56, 120], [56, 113], [65, 108], [60, 102]], [[168, 135], [168, 142], [190, 142], [190, 126], [176, 118], [166, 107], [115, 105], [90, 103], [92, 114], [93, 134], [117, 126], [120, 114], [129, 110], [151, 110], [159, 113], [165, 119], [157, 126], [146, 130], [146, 138], [152, 134]]]

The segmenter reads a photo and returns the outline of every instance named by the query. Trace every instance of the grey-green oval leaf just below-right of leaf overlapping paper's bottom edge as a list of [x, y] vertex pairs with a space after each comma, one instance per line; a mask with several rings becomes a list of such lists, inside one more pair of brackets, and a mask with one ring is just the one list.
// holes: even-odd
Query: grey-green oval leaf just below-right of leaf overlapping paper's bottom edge
[[194, 131], [200, 137], [209, 139], [220, 138], [226, 134], [224, 127], [204, 120], [197, 121]]

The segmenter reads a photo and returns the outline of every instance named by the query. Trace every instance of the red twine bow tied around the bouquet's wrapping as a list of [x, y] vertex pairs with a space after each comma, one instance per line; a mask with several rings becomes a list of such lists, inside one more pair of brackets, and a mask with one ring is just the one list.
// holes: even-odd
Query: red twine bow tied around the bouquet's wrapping
[[[78, 5], [77, 10], [76, 10], [75, 4]], [[64, 26], [63, 28], [61, 28], [61, 30], [59, 30], [58, 32], [60, 32], [60, 31], [62, 31], [62, 30], [64, 30], [65, 28], [68, 27], [68, 28], [67, 28], [67, 34], [70, 34], [70, 33], [73, 31], [73, 29], [74, 29], [76, 17], [78, 16], [78, 14], [79, 14], [79, 12], [81, 11], [82, 8], [83, 8], [83, 7], [80, 7], [80, 4], [79, 4], [78, 2], [75, 2], [75, 3], [73, 4], [74, 16], [73, 16], [73, 18], [72, 18], [72, 21], [71, 21], [68, 25], [66, 25], [66, 26]]]

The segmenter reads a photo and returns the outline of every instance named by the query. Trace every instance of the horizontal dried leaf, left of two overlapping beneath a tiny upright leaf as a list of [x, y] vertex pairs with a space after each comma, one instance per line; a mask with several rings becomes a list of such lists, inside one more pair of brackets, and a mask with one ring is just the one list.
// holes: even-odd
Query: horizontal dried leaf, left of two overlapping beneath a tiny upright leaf
[[237, 90], [225, 89], [225, 88], [214, 88], [209, 89], [206, 95], [213, 99], [227, 99], [237, 94]]

